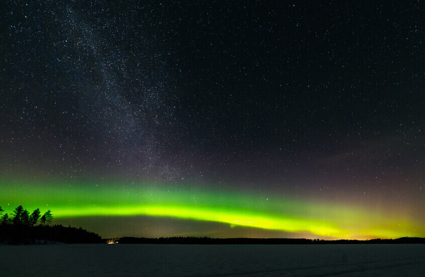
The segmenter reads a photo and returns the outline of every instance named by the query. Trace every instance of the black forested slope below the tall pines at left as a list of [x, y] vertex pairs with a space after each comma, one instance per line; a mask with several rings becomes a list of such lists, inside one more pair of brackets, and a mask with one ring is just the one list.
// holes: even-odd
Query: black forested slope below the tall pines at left
[[63, 243], [104, 243], [98, 234], [74, 227], [62, 225], [0, 225], [0, 243], [31, 244], [41, 241], [55, 241]]

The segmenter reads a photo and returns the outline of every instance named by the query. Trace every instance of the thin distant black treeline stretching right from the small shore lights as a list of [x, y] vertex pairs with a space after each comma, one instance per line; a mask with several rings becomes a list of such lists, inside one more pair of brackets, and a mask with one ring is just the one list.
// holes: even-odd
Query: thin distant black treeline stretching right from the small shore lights
[[209, 237], [170, 237], [135, 238], [122, 237], [115, 242], [134, 244], [397, 244], [425, 243], [425, 238], [397, 238], [371, 240], [324, 240], [306, 238], [209, 238]]

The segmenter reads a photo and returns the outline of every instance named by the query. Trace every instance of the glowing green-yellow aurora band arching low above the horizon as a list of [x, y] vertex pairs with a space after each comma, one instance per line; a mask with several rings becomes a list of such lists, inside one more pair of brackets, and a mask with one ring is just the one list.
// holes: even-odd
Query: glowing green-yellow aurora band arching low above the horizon
[[366, 208], [302, 201], [288, 197], [266, 198], [236, 191], [133, 183], [60, 183], [1, 180], [0, 205], [12, 213], [18, 205], [32, 211], [53, 211], [55, 219], [112, 216], [173, 217], [227, 223], [291, 233], [309, 232], [332, 238], [396, 238], [424, 236], [402, 217], [371, 213]]

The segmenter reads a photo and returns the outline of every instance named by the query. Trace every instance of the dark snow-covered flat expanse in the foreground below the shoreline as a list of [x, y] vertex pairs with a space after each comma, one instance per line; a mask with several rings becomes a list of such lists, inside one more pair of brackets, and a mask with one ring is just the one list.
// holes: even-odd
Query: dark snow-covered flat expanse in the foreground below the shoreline
[[0, 245], [0, 276], [425, 276], [425, 244]]

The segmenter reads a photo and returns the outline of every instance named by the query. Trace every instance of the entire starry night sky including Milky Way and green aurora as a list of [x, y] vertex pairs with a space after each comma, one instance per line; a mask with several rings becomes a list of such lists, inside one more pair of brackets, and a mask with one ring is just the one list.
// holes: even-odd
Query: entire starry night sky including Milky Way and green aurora
[[6, 212], [102, 237], [425, 237], [423, 3], [3, 5]]

